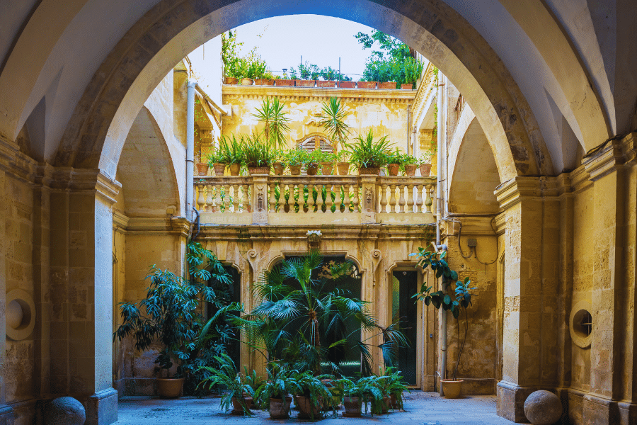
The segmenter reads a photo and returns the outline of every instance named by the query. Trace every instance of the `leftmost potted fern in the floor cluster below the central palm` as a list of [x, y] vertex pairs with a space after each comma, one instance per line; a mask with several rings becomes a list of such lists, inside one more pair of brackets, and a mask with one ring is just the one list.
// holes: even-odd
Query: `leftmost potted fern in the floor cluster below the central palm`
[[[222, 409], [230, 409], [232, 406], [232, 414], [251, 415], [250, 404], [254, 397], [253, 388], [248, 385], [245, 377], [236, 371], [234, 361], [226, 353], [221, 356], [214, 356], [219, 363], [217, 368], [210, 366], [202, 366], [200, 369], [207, 370], [210, 376], [202, 380], [199, 385], [208, 386], [212, 390], [214, 386], [225, 387], [224, 395], [221, 398]], [[197, 385], [197, 386], [199, 386]]]

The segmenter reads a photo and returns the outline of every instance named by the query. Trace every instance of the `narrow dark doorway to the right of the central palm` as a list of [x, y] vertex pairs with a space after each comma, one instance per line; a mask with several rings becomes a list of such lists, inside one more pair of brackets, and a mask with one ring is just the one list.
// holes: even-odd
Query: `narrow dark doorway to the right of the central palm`
[[401, 322], [401, 331], [410, 345], [397, 350], [398, 370], [409, 385], [418, 384], [418, 350], [416, 329], [418, 329], [418, 306], [411, 295], [418, 292], [418, 274], [415, 271], [394, 271], [391, 279], [392, 322]]

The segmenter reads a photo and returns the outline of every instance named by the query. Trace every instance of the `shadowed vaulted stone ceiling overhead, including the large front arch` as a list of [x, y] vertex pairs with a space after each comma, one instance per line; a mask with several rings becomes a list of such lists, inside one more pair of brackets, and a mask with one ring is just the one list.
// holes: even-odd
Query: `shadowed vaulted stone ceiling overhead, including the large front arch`
[[[632, 5], [631, 5], [632, 4]], [[575, 154], [634, 130], [631, 0], [5, 0], [0, 137], [27, 125], [30, 152], [115, 175], [128, 130], [171, 67], [219, 33], [314, 13], [407, 42], [458, 87], [500, 180], [558, 174]], [[37, 131], [36, 131], [37, 130]]]

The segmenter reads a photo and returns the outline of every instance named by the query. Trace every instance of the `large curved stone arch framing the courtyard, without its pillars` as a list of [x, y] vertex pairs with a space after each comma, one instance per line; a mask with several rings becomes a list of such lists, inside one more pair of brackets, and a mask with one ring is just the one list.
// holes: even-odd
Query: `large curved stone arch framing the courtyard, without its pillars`
[[[163, 1], [136, 23], [96, 76], [64, 132], [57, 166], [99, 167], [113, 176], [130, 124], [157, 83], [202, 42], [261, 18], [316, 13], [365, 23], [404, 40], [451, 79], [474, 106], [501, 180], [552, 174], [532, 111], [514, 79], [478, 32], [449, 6], [357, 0], [241, 0], [226, 6]], [[98, 94], [98, 96], [96, 96]]]

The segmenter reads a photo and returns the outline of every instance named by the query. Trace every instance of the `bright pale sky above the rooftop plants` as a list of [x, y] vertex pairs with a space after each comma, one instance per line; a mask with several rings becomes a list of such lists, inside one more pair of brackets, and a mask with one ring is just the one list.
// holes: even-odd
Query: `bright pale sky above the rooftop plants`
[[[243, 42], [241, 55], [246, 55], [258, 46], [258, 54], [263, 57], [274, 74], [282, 74], [282, 69], [298, 69], [303, 62], [319, 67], [331, 66], [354, 80], [360, 79], [365, 69], [365, 60], [371, 55], [370, 49], [363, 50], [354, 35], [359, 31], [371, 33], [372, 28], [360, 23], [319, 15], [279, 16], [247, 23], [235, 28], [237, 40]], [[206, 43], [206, 46], [210, 42]], [[210, 47], [204, 52], [198, 47], [188, 55], [195, 69], [204, 55], [210, 55]], [[205, 76], [202, 76], [205, 79]]]

